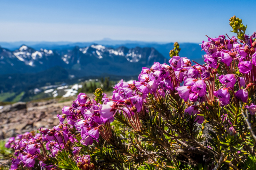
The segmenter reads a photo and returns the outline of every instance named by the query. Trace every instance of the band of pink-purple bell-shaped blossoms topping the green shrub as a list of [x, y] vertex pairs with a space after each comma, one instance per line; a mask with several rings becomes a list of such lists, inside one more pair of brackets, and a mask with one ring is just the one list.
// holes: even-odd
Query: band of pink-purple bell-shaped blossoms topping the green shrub
[[[121, 80], [116, 84], [112, 98], [103, 93], [100, 101], [96, 97], [91, 100], [86, 94], [80, 93], [71, 107], [63, 107], [62, 115], [57, 115], [60, 120], [58, 126], [52, 129], [40, 128], [41, 134], [25, 133], [9, 139], [5, 146], [13, 148], [16, 157], [12, 160], [11, 169], [17, 169], [20, 165], [34, 167], [35, 161], [42, 168], [49, 169], [44, 161], [50, 156], [55, 157], [61, 150], [72, 150], [77, 164], [89, 165], [90, 156], [79, 155], [79, 147], [72, 148], [72, 144], [77, 142], [72, 129], [75, 128], [76, 133], [81, 135], [79, 142], [84, 145], [98, 142], [100, 135], [104, 140], [109, 140], [112, 135], [110, 123], [120, 111], [133, 129], [139, 130], [138, 114], [145, 115], [148, 111], [146, 99], [149, 95], [156, 100], [167, 94], [180, 97], [189, 103], [184, 114], [197, 114], [197, 123], [204, 122], [204, 115], [196, 106], [198, 102], [219, 102], [220, 106], [228, 105], [231, 100], [247, 103], [248, 88], [256, 83], [256, 43], [252, 37], [255, 34], [248, 36], [243, 43], [235, 37], [227, 39], [224, 35], [209, 38], [208, 42], [203, 41], [201, 45], [206, 52], [204, 65], [194, 61], [192, 65], [188, 58], [180, 56], [173, 56], [168, 64], [156, 62], [151, 68], [142, 68], [138, 81], [128, 84]], [[235, 61], [239, 62], [237, 70], [242, 75], [240, 77], [236, 72]], [[218, 74], [220, 64], [227, 74]], [[255, 114], [256, 106], [253, 103], [246, 108], [250, 114]]]

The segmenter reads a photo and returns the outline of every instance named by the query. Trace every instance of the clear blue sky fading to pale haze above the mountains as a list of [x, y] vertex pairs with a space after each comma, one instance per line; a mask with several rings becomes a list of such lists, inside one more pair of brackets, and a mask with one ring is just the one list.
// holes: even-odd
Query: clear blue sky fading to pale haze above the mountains
[[0, 41], [201, 42], [230, 33], [233, 15], [256, 31], [253, 1], [1, 0]]

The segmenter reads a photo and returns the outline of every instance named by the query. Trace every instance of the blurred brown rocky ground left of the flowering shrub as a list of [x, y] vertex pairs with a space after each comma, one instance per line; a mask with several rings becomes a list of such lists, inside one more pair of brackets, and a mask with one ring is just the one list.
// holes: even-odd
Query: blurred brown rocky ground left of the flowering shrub
[[[93, 94], [88, 94], [93, 99]], [[15, 137], [40, 127], [52, 128], [59, 124], [57, 114], [64, 106], [71, 106], [74, 98], [18, 102], [0, 109], [0, 140]]]

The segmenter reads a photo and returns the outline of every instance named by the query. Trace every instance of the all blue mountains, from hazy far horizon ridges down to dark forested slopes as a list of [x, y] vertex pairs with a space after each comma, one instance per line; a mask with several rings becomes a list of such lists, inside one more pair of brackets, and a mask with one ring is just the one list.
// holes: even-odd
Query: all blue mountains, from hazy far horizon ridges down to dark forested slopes
[[[121, 45], [46, 43], [41, 44], [41, 48], [40, 44], [30, 45], [23, 44], [16, 49], [0, 47], [0, 101], [9, 94], [12, 97], [5, 101], [22, 95], [20, 99], [27, 100], [35, 88], [72, 85], [82, 79], [137, 79], [142, 67], [151, 67], [154, 62], [168, 63], [169, 51], [173, 48], [173, 43], [138, 41]], [[48, 48], [44, 48], [46, 45]], [[180, 56], [203, 63], [204, 52], [198, 44], [181, 43], [180, 48]]]

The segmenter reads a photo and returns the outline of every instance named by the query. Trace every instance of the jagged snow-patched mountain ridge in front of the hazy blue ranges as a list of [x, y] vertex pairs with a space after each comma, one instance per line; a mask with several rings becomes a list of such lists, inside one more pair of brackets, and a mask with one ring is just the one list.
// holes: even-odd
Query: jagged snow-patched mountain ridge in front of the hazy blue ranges
[[76, 77], [104, 73], [127, 76], [154, 62], [166, 63], [167, 59], [155, 48], [148, 47], [111, 48], [93, 44], [72, 50], [35, 50], [26, 45], [14, 51], [0, 48], [0, 74], [36, 73], [60, 66]]

